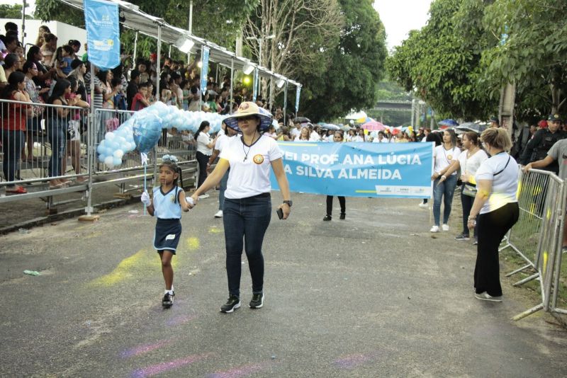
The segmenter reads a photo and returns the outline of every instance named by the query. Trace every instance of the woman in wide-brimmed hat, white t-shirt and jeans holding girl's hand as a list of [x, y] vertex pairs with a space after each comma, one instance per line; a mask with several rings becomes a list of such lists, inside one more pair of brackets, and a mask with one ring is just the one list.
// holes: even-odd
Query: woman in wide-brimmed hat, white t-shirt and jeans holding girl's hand
[[225, 118], [225, 123], [242, 132], [242, 136], [228, 139], [220, 152], [217, 166], [192, 197], [197, 203], [198, 195], [217, 185], [230, 168], [223, 207], [229, 297], [220, 307], [220, 311], [226, 313], [240, 307], [243, 239], [252, 276], [249, 307], [259, 309], [264, 305], [262, 243], [271, 219], [270, 167], [283, 197], [283, 203], [278, 207], [282, 219], [289, 216], [292, 202], [288, 179], [283, 171], [283, 155], [274, 139], [262, 135], [271, 125], [271, 114], [255, 103], [244, 102], [234, 115]]

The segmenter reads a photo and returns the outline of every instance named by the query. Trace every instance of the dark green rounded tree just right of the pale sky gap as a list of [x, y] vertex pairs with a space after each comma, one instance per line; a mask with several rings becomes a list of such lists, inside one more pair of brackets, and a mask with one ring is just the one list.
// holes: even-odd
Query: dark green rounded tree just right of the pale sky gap
[[489, 43], [482, 17], [481, 0], [432, 2], [427, 25], [388, 58], [389, 73], [437, 114], [475, 120], [494, 113], [497, 97], [478, 84], [481, 52]]

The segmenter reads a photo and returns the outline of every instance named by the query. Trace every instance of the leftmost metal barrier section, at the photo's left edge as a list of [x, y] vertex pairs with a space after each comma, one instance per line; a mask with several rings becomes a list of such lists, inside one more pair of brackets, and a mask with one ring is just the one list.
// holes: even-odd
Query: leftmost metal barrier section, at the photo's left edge
[[77, 106], [0, 100], [0, 203], [85, 190], [77, 184], [89, 173], [88, 115]]

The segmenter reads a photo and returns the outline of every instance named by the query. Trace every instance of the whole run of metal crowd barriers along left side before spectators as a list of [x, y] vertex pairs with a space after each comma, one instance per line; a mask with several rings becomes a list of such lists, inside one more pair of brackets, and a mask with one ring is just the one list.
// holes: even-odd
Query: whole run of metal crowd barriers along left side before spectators
[[[0, 100], [0, 204], [42, 198], [47, 212], [52, 213], [57, 205], [84, 200], [85, 211], [90, 214], [93, 192], [99, 186], [117, 185], [115, 197], [139, 190], [141, 185], [126, 188], [129, 181], [139, 184], [144, 178], [137, 151], [126, 154], [123, 164], [112, 169], [99, 163], [96, 153], [104, 134], [116, 130], [132, 113], [96, 109], [91, 114], [89, 108]], [[180, 158], [184, 179], [195, 175], [192, 134], [164, 131], [159, 145], [148, 154], [147, 178], [155, 177], [157, 161], [164, 154]], [[17, 190], [22, 193], [15, 193]], [[56, 196], [81, 192], [82, 198], [54, 202]]]

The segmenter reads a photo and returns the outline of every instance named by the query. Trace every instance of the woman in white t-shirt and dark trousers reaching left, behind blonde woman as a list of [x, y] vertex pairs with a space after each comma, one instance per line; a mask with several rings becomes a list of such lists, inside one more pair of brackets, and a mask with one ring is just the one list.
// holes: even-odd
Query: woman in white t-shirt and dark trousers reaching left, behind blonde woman
[[[459, 159], [454, 162], [449, 167], [449, 170], [445, 173], [445, 176], [450, 175], [451, 173], [458, 171], [459, 168], [461, 169], [461, 181], [463, 182], [461, 185], [461, 205], [463, 205], [463, 232], [456, 236], [456, 240], [468, 240], [469, 233], [468, 233], [468, 214], [471, 212], [471, 207], [473, 207], [474, 196], [476, 192], [476, 181], [474, 179], [474, 175], [476, 174], [476, 170], [481, 163], [488, 159], [488, 155], [486, 154], [481, 146], [479, 146], [478, 142], [478, 134], [473, 131], [469, 131], [463, 134], [463, 147], [465, 151], [459, 154]], [[444, 177], [442, 176], [440, 181], [444, 181]], [[474, 240], [476, 244], [477, 239], [477, 229], [474, 229]]]

